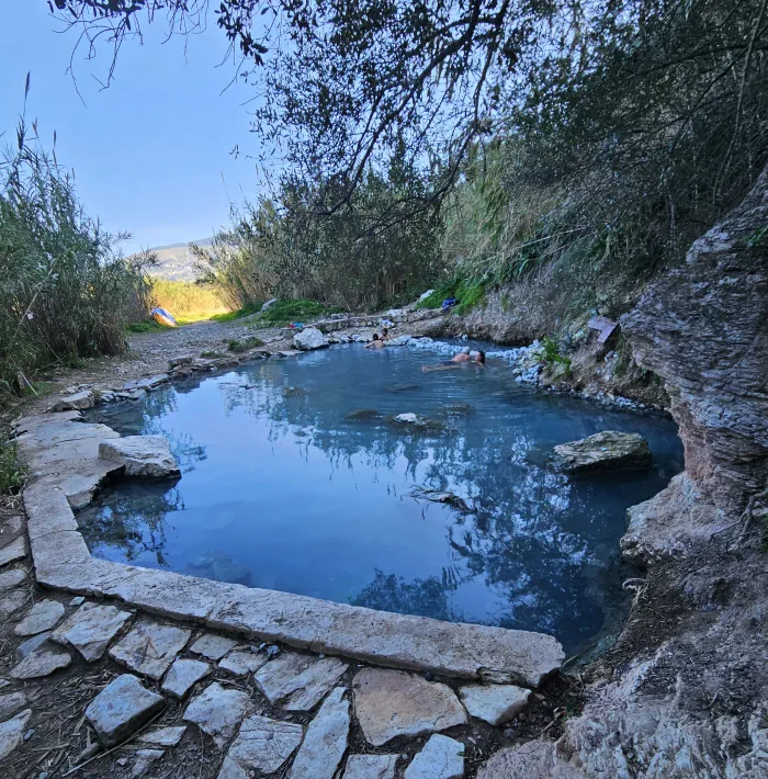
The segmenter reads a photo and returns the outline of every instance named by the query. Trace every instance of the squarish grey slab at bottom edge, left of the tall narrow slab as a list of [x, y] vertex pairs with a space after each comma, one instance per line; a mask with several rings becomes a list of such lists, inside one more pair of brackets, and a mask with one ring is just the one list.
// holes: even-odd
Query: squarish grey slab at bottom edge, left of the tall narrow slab
[[[274, 774], [293, 755], [303, 735], [304, 727], [295, 722], [248, 716], [242, 721], [227, 757], [245, 776], [250, 776], [249, 771], [256, 771], [257, 776]], [[233, 767], [228, 767], [228, 771], [236, 776]]]

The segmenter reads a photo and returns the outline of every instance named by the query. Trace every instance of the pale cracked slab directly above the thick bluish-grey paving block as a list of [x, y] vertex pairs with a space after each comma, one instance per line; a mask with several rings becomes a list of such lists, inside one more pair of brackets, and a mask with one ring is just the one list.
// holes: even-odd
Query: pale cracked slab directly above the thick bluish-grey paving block
[[137, 674], [159, 679], [191, 634], [182, 628], [142, 620], [110, 650], [110, 657]]

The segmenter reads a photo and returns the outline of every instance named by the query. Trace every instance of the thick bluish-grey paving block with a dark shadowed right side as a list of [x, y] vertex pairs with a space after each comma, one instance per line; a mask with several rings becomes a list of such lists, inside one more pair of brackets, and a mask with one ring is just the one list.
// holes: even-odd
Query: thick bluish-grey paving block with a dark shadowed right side
[[162, 696], [148, 690], [132, 674], [123, 674], [88, 704], [86, 718], [102, 744], [111, 747], [125, 741], [165, 705]]

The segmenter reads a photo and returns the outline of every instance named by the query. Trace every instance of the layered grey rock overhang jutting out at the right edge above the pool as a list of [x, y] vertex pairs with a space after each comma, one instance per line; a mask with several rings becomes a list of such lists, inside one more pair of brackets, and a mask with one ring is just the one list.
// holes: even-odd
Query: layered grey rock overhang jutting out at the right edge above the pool
[[666, 383], [689, 477], [724, 511], [768, 477], [766, 226], [768, 169], [621, 320], [635, 360]]

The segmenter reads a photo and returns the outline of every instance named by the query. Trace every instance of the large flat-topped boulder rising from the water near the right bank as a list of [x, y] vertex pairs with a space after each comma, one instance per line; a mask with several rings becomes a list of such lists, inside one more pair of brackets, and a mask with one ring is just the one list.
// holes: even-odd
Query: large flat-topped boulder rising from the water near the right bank
[[552, 463], [565, 473], [607, 473], [651, 467], [648, 442], [636, 432], [606, 430], [554, 448]]

